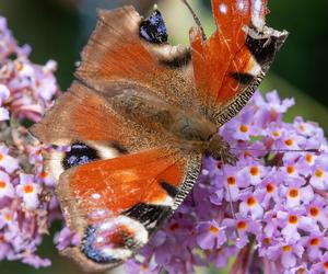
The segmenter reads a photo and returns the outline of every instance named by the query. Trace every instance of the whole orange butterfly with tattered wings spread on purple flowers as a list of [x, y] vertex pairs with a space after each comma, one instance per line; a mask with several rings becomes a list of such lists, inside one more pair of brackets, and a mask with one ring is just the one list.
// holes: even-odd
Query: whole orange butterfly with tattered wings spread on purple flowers
[[156, 9], [148, 19], [130, 5], [101, 10], [77, 80], [32, 128], [70, 147], [45, 167], [82, 236], [63, 254], [86, 271], [136, 254], [191, 191], [202, 156], [236, 161], [218, 129], [251, 98], [288, 32], [266, 26], [266, 0], [211, 3], [216, 31], [207, 38], [198, 23], [188, 48], [167, 42]]

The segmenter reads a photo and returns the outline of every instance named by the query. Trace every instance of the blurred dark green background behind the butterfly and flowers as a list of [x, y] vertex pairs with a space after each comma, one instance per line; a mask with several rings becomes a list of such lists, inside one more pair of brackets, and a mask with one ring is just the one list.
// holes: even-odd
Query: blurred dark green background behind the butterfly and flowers
[[[0, 15], [8, 18], [9, 27], [20, 44], [32, 46], [34, 62], [58, 61], [57, 78], [60, 88], [66, 90], [73, 79], [79, 53], [95, 25], [97, 8], [133, 4], [147, 15], [155, 2], [167, 21], [172, 42], [187, 44], [188, 28], [194, 22], [178, 0], [1, 0]], [[210, 0], [190, 0], [190, 3], [209, 35], [213, 30]], [[328, 1], [274, 0], [269, 9], [269, 25], [285, 28], [291, 34], [260, 89], [263, 92], [277, 89], [282, 96], [294, 96], [297, 104], [288, 119], [303, 115], [318, 122], [327, 133]], [[51, 267], [34, 270], [16, 262], [1, 262], [0, 273], [81, 273], [73, 263], [58, 255], [51, 236], [39, 253], [51, 258]]]

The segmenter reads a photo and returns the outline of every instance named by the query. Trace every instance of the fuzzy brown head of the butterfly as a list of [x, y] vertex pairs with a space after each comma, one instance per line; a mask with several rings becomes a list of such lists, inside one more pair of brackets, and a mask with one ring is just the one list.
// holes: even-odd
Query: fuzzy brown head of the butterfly
[[214, 135], [210, 140], [206, 153], [213, 157], [215, 160], [221, 160], [224, 163], [235, 165], [237, 157], [231, 152], [230, 145], [220, 135]]

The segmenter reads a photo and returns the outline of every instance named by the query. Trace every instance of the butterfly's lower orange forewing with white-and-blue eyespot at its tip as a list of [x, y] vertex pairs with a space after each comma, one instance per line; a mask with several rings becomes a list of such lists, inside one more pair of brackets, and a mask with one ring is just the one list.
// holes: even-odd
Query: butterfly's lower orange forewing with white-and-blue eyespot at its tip
[[197, 155], [154, 148], [68, 170], [57, 193], [83, 241], [65, 252], [92, 270], [127, 260], [178, 207], [199, 169]]

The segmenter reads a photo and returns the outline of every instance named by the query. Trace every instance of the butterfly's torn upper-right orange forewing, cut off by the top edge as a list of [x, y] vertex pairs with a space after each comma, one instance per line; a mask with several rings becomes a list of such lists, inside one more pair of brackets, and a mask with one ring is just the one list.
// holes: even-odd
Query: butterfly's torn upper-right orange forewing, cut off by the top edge
[[266, 7], [267, 1], [212, 0], [218, 30], [207, 41], [200, 28], [191, 30], [195, 84], [218, 125], [247, 103], [286, 38], [286, 32], [265, 26]]

